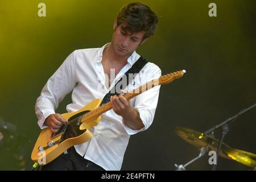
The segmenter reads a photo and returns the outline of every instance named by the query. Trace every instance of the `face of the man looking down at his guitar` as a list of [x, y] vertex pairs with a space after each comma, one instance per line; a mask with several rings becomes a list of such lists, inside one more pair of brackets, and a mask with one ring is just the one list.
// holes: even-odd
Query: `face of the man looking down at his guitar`
[[146, 41], [146, 39], [143, 40], [144, 34], [144, 31], [136, 32], [133, 34], [130, 32], [125, 32], [122, 29], [122, 24], [117, 27], [115, 22], [114, 34], [112, 38], [112, 46], [114, 52], [118, 56], [130, 56], [135, 51], [135, 49], [139, 47], [139, 45]]

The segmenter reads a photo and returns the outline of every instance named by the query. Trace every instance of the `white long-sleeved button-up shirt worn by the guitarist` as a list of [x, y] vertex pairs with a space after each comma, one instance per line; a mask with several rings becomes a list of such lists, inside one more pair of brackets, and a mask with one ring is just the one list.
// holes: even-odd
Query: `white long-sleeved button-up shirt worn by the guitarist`
[[[57, 71], [49, 78], [40, 97], [36, 100], [35, 111], [41, 129], [47, 127], [44, 120], [55, 109], [63, 98], [72, 90], [72, 103], [67, 105], [68, 112], [80, 110], [90, 101], [104, 98], [115, 82], [139, 59], [134, 51], [127, 59], [127, 64], [117, 74], [107, 89], [105, 73], [102, 67], [102, 52], [110, 43], [101, 48], [78, 49], [73, 51], [61, 64]], [[126, 88], [129, 92], [161, 76], [161, 70], [153, 63], [147, 63]], [[132, 130], [125, 125], [121, 116], [113, 109], [101, 115], [101, 121], [94, 126], [93, 137], [88, 142], [76, 145], [76, 151], [106, 170], [120, 170], [130, 135], [136, 134], [150, 127], [158, 104], [160, 85], [139, 94], [130, 100], [131, 105], [139, 112], [144, 127]]]

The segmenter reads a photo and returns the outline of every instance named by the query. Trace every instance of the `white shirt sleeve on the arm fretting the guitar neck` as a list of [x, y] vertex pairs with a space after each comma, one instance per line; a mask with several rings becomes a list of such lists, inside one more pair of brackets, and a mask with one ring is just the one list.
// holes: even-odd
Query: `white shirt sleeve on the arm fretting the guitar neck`
[[[153, 67], [149, 69], [146, 68], [146, 75], [148, 79], [144, 81], [144, 84], [150, 80], [159, 78], [162, 75], [162, 72], [160, 68], [154, 64]], [[155, 86], [154, 88], [151, 88], [146, 92], [139, 94], [135, 98], [134, 109], [139, 113], [139, 117], [141, 118], [144, 127], [141, 130], [133, 130], [130, 129], [130, 127], [128, 127], [123, 121], [123, 125], [125, 127], [127, 134], [134, 135], [140, 131], [147, 130], [148, 127], [150, 127], [155, 116], [155, 110], [158, 104], [159, 91], [160, 85]]]

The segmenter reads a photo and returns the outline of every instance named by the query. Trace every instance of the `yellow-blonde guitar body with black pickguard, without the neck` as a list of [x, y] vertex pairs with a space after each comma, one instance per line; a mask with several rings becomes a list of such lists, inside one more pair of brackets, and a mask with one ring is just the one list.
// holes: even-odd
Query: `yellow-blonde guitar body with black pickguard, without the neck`
[[[65, 130], [65, 133], [71, 133], [77, 135], [76, 137], [72, 138], [64, 138], [64, 135], [56, 135], [52, 137], [52, 132], [47, 127], [43, 129], [36, 141], [34, 149], [31, 154], [31, 159], [34, 162], [39, 162], [40, 160], [43, 161], [43, 157], [45, 157], [44, 164], [48, 164], [53, 159], [57, 158], [57, 156], [61, 155], [64, 151], [68, 148], [76, 145], [87, 142], [93, 137], [93, 134], [89, 131], [90, 128], [97, 125], [100, 122], [101, 117], [98, 116], [97, 118], [90, 118], [85, 122], [80, 122], [79, 120], [74, 122], [73, 118], [80, 117], [81, 115], [88, 113], [91, 110], [96, 109], [100, 106], [101, 100], [96, 99], [91, 101], [89, 104], [82, 107], [82, 109], [74, 112], [74, 113], [64, 113], [61, 114], [64, 118], [69, 121], [69, 126], [73, 127], [72, 131]], [[71, 122], [73, 120], [73, 123]], [[73, 125], [73, 126], [72, 126]], [[75, 131], [75, 133], [73, 133]], [[42, 148], [41, 148], [42, 147]], [[39, 165], [44, 165], [40, 164]]]

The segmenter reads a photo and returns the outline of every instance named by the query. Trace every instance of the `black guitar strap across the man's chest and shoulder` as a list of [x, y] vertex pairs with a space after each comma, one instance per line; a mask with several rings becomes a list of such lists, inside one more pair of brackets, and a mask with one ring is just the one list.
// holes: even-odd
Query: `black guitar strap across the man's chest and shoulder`
[[[126, 77], [126, 80], [127, 80], [126, 85], [128, 86], [130, 84], [130, 82], [134, 79], [134, 74], [139, 73], [141, 71], [141, 69], [144, 67], [144, 65], [146, 65], [147, 63], [148, 63], [148, 61], [146, 59], [144, 59], [144, 57], [139, 57], [139, 59], [125, 73], [125, 75], [123, 75], [123, 77], [113, 86], [112, 89], [110, 89], [109, 93], [107, 93], [104, 96], [104, 98], [101, 101], [101, 105], [108, 103], [110, 101], [111, 96], [114, 96], [114, 95], [119, 96], [119, 94], [121, 93], [121, 89], [123, 89], [122, 88], [123, 84], [118, 84], [118, 83], [120, 81], [122, 81], [123, 79], [125, 79], [125, 77]], [[133, 78], [131, 78], [131, 77], [133, 77]]]

